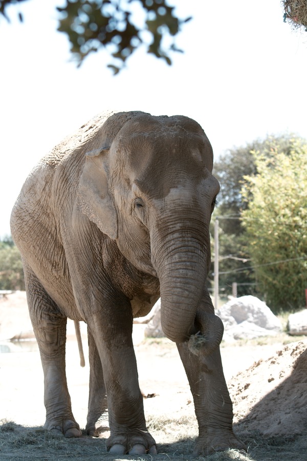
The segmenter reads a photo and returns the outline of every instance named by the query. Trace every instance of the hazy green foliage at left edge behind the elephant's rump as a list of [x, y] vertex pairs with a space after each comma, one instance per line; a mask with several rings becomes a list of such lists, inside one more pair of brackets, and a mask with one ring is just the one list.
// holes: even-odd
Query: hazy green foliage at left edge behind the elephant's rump
[[25, 290], [21, 256], [11, 237], [0, 240], [0, 290]]

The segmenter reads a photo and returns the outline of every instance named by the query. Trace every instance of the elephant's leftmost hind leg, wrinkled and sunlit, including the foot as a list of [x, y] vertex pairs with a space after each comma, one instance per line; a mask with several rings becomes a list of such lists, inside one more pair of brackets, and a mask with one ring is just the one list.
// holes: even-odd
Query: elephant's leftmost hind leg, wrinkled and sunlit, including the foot
[[25, 270], [29, 313], [38, 343], [44, 374], [45, 429], [66, 437], [80, 437], [71, 409], [65, 374], [67, 318], [41, 286], [30, 269]]

